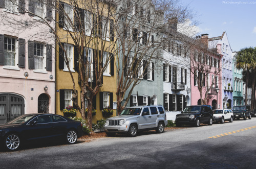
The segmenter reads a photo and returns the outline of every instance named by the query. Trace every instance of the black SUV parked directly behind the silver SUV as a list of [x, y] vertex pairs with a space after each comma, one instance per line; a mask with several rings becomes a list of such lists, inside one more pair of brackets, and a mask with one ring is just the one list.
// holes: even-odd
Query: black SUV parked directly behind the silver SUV
[[181, 114], [176, 115], [176, 126], [190, 124], [199, 127], [200, 123], [212, 125], [213, 114], [210, 105], [188, 106]]

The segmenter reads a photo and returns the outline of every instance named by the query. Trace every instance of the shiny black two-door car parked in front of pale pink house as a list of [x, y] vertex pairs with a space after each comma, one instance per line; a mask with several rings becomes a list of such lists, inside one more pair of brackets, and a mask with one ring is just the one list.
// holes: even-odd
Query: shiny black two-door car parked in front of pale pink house
[[57, 114], [25, 114], [0, 125], [0, 142], [6, 150], [17, 150], [29, 140], [61, 138], [74, 144], [82, 135], [80, 122]]

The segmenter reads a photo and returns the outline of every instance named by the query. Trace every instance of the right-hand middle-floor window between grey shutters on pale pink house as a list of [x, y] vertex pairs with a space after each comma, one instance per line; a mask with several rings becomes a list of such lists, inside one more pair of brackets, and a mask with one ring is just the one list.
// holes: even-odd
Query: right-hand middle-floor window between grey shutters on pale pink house
[[35, 69], [44, 69], [44, 44], [34, 43]]

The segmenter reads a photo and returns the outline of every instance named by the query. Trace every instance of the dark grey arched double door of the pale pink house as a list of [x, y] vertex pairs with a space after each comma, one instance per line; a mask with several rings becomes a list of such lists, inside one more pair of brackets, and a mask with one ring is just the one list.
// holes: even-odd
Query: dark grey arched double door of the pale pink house
[[16, 94], [0, 94], [0, 124], [10, 122], [25, 112], [24, 99]]

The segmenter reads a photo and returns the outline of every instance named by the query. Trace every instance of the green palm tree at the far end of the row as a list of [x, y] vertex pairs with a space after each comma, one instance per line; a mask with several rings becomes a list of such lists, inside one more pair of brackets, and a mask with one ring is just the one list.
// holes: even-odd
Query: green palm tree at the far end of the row
[[[245, 47], [238, 52], [238, 57], [235, 63], [237, 68], [242, 68], [246, 71], [246, 81], [245, 81], [245, 103], [247, 103], [247, 88], [249, 80], [249, 72], [251, 69], [256, 68], [256, 56], [255, 49], [253, 47]], [[252, 93], [254, 93], [254, 83], [255, 75], [252, 76]]]

